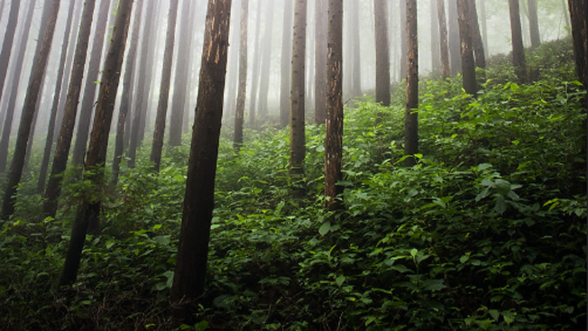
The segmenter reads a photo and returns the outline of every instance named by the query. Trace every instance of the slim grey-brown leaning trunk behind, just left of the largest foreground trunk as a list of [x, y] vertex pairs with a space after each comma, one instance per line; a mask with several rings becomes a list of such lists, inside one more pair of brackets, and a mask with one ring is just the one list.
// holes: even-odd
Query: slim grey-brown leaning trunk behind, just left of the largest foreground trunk
[[155, 130], [153, 131], [151, 154], [153, 170], [157, 172], [159, 172], [161, 166], [161, 151], [163, 149], [165, 120], [168, 115], [168, 101], [170, 100], [171, 61], [173, 60], [173, 45], [176, 39], [178, 0], [170, 0], [170, 14], [168, 14], [168, 17], [168, 35], [165, 40], [163, 68], [161, 69], [160, 100], [157, 105], [157, 117], [155, 118]]

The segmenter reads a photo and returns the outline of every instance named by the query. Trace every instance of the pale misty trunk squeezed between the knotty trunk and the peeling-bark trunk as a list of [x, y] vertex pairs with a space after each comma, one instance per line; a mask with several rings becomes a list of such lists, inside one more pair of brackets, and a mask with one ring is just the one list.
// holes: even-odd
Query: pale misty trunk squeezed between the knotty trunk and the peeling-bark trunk
[[[328, 6], [325, 0], [315, 3], [315, 123], [326, 121], [326, 58], [328, 33]], [[343, 9], [341, 9], [343, 14]], [[335, 19], [338, 19], [335, 18]], [[342, 25], [343, 26], [343, 25]], [[342, 61], [343, 62], [343, 61]]]

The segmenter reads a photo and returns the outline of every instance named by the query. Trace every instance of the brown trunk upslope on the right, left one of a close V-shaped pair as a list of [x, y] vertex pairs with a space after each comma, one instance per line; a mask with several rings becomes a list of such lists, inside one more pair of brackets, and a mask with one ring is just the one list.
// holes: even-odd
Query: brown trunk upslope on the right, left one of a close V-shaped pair
[[468, 0], [457, 0], [457, 20], [459, 23], [459, 38], [462, 53], [462, 75], [465, 93], [475, 96], [478, 92], [475, 80], [475, 64], [473, 61], [472, 26]]

